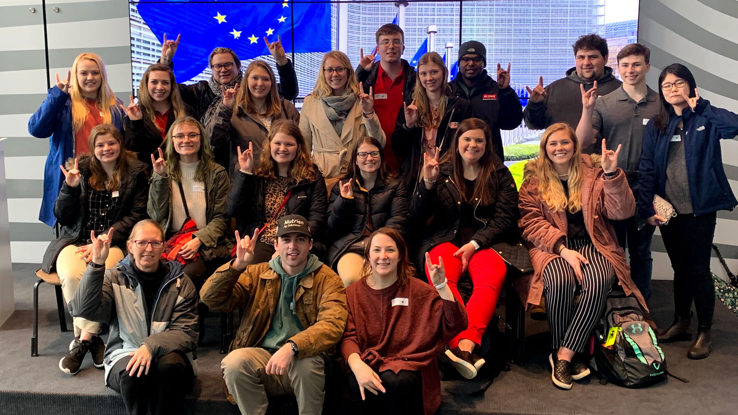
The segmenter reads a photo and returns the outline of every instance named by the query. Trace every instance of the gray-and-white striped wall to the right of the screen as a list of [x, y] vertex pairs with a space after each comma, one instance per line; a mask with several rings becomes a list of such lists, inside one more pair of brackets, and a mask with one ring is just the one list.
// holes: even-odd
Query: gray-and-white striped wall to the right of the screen
[[[682, 63], [697, 80], [700, 96], [712, 105], [738, 113], [738, 1], [641, 0], [638, 41], [651, 49], [649, 86], [658, 91], [665, 66]], [[738, 139], [722, 140], [723, 165], [738, 195]], [[738, 211], [718, 212], [714, 242], [728, 266], [738, 269]], [[661, 235], [653, 241], [655, 279], [672, 279]], [[717, 258], [712, 271], [725, 276]]]

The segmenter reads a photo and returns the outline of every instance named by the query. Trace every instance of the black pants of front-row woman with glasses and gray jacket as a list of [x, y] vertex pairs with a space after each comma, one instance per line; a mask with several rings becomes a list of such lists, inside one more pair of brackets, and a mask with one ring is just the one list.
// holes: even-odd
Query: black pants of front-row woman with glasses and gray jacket
[[123, 397], [129, 415], [181, 414], [184, 395], [190, 391], [195, 374], [187, 356], [171, 352], [151, 361], [148, 374], [129, 376], [125, 366], [130, 356], [121, 358], [108, 374], [108, 387]]

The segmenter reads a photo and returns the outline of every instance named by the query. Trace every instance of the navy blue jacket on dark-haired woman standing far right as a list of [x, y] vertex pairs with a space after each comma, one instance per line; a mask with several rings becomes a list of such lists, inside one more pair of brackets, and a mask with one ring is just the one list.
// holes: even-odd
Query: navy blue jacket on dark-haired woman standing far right
[[732, 210], [738, 201], [723, 170], [720, 139], [738, 135], [738, 114], [710, 105], [700, 98], [697, 107], [685, 108], [681, 116], [669, 111], [665, 132], [651, 119], [644, 130], [641, 166], [638, 168], [638, 213], [644, 219], [655, 215], [653, 196], [666, 196], [666, 158], [669, 142], [679, 120], [683, 120], [684, 155], [689, 177], [689, 195], [694, 215]]

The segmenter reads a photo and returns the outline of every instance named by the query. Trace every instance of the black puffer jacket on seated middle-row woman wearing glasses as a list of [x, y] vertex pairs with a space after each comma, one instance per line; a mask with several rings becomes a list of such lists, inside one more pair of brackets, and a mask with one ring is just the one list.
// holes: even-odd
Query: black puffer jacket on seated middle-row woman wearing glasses
[[368, 192], [354, 181], [354, 198], [341, 196], [338, 184], [331, 189], [331, 208], [328, 212], [328, 265], [333, 267], [341, 254], [359, 240], [367, 220], [372, 229], [382, 226], [407, 234], [410, 225], [410, 195], [399, 178], [387, 181], [377, 178]]

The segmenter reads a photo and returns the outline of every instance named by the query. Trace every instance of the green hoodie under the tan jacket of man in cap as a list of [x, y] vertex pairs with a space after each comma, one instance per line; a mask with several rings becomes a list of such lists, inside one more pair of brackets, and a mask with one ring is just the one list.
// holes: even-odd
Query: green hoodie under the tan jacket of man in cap
[[273, 258], [269, 261], [269, 267], [272, 268], [282, 279], [282, 290], [280, 291], [279, 300], [277, 301], [277, 310], [272, 318], [272, 325], [266, 332], [266, 337], [261, 343], [264, 349], [279, 349], [284, 345], [287, 339], [303, 331], [303, 325], [297, 318], [294, 307], [294, 296], [297, 293], [297, 283], [303, 276], [308, 273], [317, 271], [323, 266], [323, 262], [318, 260], [313, 254], [308, 255], [308, 261], [302, 272], [295, 276], [287, 275], [282, 269], [282, 259], [280, 257]]

